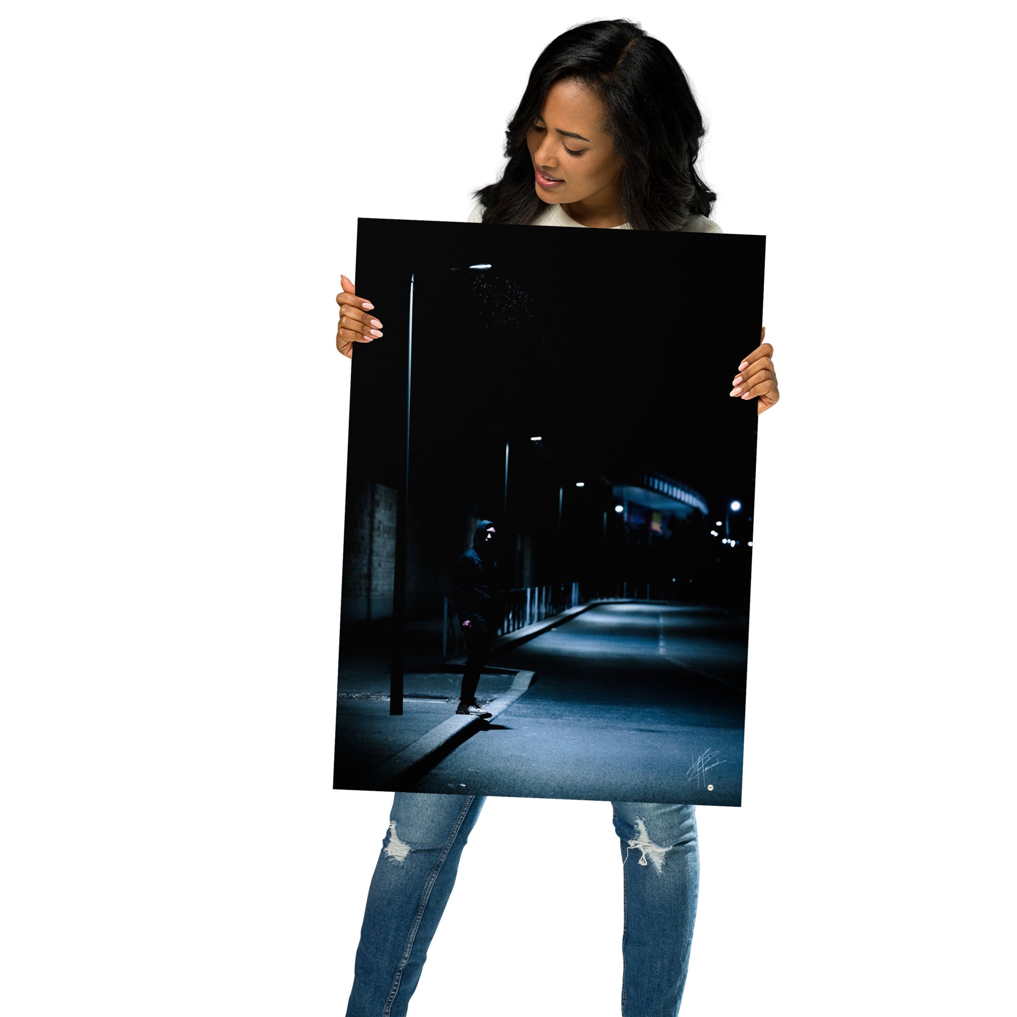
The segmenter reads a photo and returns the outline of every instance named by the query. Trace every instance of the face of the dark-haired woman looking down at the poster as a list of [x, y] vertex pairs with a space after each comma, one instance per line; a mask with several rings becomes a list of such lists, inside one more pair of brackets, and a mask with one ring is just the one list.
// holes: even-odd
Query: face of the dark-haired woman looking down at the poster
[[541, 200], [567, 204], [615, 199], [621, 163], [604, 130], [607, 111], [585, 84], [555, 81], [526, 141]]

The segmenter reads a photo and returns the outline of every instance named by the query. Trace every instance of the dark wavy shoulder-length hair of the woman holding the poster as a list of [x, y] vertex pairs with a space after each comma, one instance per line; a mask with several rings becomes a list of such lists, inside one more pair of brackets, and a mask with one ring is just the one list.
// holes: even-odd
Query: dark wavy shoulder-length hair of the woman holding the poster
[[696, 172], [706, 128], [684, 71], [663, 43], [619, 18], [578, 24], [537, 58], [505, 130], [501, 176], [474, 194], [484, 223], [532, 223], [546, 207], [526, 137], [548, 89], [564, 78], [593, 88], [607, 108], [605, 127], [621, 162], [621, 211], [634, 230], [678, 230], [695, 215], [710, 215], [717, 195]]

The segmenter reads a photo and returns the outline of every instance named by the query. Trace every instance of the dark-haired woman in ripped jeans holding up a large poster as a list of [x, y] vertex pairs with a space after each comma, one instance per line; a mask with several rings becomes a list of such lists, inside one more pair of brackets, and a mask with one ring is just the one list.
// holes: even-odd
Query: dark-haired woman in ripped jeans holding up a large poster
[[[703, 119], [671, 52], [638, 25], [594, 21], [537, 59], [505, 131], [500, 179], [476, 192], [471, 222], [719, 233], [696, 172]], [[382, 337], [370, 301], [343, 277], [336, 345]], [[765, 336], [766, 330], [763, 330]], [[761, 337], [762, 338], [762, 337]], [[730, 398], [778, 398], [769, 344], [737, 365]], [[371, 882], [347, 1017], [407, 1012], [484, 799], [398, 793]], [[696, 918], [693, 805], [613, 802], [624, 879], [621, 1006], [673, 1017]]]

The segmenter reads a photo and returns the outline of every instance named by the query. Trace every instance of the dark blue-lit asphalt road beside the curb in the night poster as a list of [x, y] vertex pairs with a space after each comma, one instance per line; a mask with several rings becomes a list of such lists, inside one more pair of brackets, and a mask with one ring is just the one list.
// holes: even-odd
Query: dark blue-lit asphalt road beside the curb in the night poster
[[739, 804], [747, 641], [715, 608], [597, 605], [492, 659], [535, 683], [404, 789]]

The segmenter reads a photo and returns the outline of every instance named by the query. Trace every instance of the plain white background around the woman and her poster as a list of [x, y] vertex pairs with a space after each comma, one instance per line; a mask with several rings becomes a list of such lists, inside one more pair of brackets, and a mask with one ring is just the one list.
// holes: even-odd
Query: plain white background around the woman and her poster
[[[641, 20], [690, 75], [714, 218], [768, 237], [782, 392], [744, 803], [699, 810], [682, 1017], [1009, 1008], [1003, 10], [4, 15], [7, 1012], [345, 1010], [390, 799], [330, 788], [333, 298], [358, 216], [466, 217], [538, 52], [597, 16]], [[598, 341], [624, 356], [639, 295], [605, 278], [604, 298]], [[414, 1017], [618, 1012], [609, 821], [488, 802]]]

